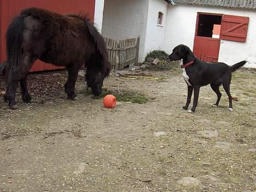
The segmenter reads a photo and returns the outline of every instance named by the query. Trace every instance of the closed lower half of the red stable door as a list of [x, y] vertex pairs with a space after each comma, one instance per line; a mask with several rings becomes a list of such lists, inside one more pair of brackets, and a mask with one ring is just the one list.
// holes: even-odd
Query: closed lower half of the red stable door
[[218, 62], [219, 45], [219, 39], [196, 36], [193, 52], [201, 61]]

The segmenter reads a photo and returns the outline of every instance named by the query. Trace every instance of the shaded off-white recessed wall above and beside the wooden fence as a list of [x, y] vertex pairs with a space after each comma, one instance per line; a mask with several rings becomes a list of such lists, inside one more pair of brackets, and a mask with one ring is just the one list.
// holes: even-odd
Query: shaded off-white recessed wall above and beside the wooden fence
[[111, 39], [141, 37], [139, 62], [144, 59], [149, 0], [105, 0], [102, 35]]

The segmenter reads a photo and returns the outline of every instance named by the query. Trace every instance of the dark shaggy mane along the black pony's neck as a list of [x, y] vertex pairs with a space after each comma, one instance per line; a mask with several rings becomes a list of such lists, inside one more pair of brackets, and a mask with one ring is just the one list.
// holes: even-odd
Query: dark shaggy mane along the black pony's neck
[[100, 63], [101, 63], [101, 70], [104, 72], [106, 76], [110, 73], [110, 64], [108, 62], [108, 53], [105, 41], [98, 32], [98, 29], [95, 27], [95, 23], [92, 22], [92, 20], [89, 18], [88, 14], [67, 14], [67, 16], [75, 17], [77, 19], [83, 20], [86, 26], [89, 29], [90, 34], [92, 35], [92, 38], [94, 39], [94, 43], [96, 44], [98, 53], [100, 55]]

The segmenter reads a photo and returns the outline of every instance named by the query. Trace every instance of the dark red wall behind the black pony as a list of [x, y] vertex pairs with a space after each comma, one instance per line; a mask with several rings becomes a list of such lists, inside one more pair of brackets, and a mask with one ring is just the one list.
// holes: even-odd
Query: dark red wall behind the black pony
[[[60, 14], [88, 13], [94, 19], [95, 0], [0, 0], [0, 62], [6, 59], [4, 35], [11, 20], [20, 13], [22, 9], [38, 7], [55, 11]], [[51, 64], [36, 61], [31, 71], [59, 69]]]

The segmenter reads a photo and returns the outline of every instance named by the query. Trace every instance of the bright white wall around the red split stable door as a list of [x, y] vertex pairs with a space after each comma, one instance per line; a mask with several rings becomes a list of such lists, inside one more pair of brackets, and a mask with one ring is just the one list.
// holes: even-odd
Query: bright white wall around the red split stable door
[[220, 41], [219, 62], [232, 65], [247, 59], [245, 67], [256, 68], [256, 11], [229, 9], [197, 5], [168, 5], [167, 27], [163, 49], [171, 53], [178, 44], [185, 44], [193, 50], [197, 12], [248, 16], [249, 26], [246, 43]]

